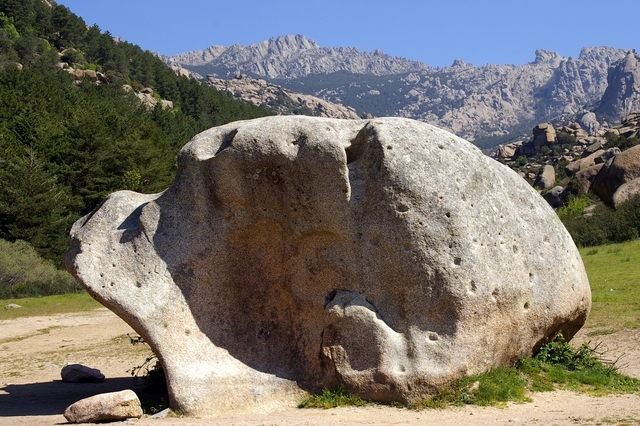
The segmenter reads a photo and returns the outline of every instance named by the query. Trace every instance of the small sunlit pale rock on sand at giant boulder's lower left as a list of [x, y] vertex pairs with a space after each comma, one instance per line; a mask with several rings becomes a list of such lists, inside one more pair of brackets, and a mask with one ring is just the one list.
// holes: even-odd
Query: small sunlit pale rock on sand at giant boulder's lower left
[[64, 410], [69, 423], [114, 422], [142, 417], [138, 396], [130, 389], [81, 399]]

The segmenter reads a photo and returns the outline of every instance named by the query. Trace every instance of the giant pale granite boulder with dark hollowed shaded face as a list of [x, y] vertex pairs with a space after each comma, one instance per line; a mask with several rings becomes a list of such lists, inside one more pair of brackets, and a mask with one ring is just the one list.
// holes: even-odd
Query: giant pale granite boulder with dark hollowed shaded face
[[71, 236], [68, 269], [152, 346], [190, 415], [337, 385], [412, 401], [570, 338], [591, 303], [535, 190], [408, 119], [210, 129], [167, 191], [114, 193]]

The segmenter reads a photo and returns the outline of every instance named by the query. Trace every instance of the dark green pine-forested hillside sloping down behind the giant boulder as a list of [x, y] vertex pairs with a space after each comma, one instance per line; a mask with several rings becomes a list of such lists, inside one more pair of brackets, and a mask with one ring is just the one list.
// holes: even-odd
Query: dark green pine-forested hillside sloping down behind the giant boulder
[[[145, 87], [173, 109], [141, 103], [134, 91]], [[53, 1], [0, 0], [0, 238], [60, 265], [71, 224], [108, 193], [164, 190], [192, 136], [268, 114]]]

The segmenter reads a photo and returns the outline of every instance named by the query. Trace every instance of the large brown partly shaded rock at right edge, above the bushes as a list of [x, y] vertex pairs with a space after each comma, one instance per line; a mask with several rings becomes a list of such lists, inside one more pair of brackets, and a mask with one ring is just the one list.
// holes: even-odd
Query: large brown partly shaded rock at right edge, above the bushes
[[614, 206], [613, 194], [627, 182], [640, 178], [640, 145], [611, 158], [593, 181], [593, 192], [609, 207]]

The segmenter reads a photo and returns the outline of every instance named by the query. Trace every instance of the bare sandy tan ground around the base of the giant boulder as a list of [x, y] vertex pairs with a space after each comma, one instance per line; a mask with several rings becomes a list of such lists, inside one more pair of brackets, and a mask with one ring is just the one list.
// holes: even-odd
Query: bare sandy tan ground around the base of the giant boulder
[[[602, 342], [607, 358], [619, 361], [622, 371], [640, 378], [640, 330], [586, 337], [574, 341]], [[113, 313], [88, 313], [0, 321], [0, 425], [44, 426], [65, 424], [64, 409], [75, 401], [103, 392], [133, 389], [141, 396], [127, 370], [150, 354], [146, 345], [131, 345], [133, 330]], [[107, 377], [97, 384], [70, 384], [60, 380], [66, 363], [98, 368]], [[597, 425], [640, 424], [640, 395], [591, 397], [570, 391], [534, 393], [533, 402], [505, 408], [466, 406], [444, 410], [411, 411], [391, 407], [308, 410], [239, 415], [216, 419], [164, 418], [129, 420], [132, 425]]]

